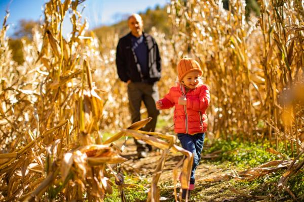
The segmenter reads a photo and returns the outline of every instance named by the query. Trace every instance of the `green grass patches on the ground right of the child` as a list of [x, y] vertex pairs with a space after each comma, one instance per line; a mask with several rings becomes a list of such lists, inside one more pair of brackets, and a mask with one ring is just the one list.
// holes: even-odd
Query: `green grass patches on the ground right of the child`
[[[290, 145], [288, 145], [288, 147], [290, 147]], [[279, 145], [279, 150], [282, 151], [280, 155], [268, 152], [267, 148], [270, 148], [270, 145], [265, 143], [239, 143], [235, 141], [217, 140], [212, 145], [207, 145], [203, 149], [203, 152], [204, 154], [209, 154], [213, 151], [221, 150], [218, 158], [205, 160], [205, 163], [212, 163], [222, 167], [232, 166], [237, 170], [256, 167], [273, 160], [291, 159], [291, 153], [285, 151], [283, 143]], [[229, 183], [243, 193], [265, 196], [271, 192], [275, 193], [274, 191], [277, 190], [276, 184], [285, 171], [286, 169], [281, 169], [253, 181], [237, 181], [232, 179]], [[304, 194], [303, 179], [304, 168], [292, 176], [287, 183], [287, 187], [296, 197]], [[268, 198], [267, 200], [291, 201], [292, 197], [287, 191], [283, 190], [281, 193], [278, 193], [278, 198]]]

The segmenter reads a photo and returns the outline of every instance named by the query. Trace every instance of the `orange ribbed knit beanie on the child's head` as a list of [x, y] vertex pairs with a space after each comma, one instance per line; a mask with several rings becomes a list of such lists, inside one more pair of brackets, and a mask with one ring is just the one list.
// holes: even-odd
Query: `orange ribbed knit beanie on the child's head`
[[199, 71], [200, 76], [202, 76], [203, 71], [198, 62], [192, 58], [183, 58], [177, 64], [178, 81], [181, 81], [183, 77], [193, 71]]

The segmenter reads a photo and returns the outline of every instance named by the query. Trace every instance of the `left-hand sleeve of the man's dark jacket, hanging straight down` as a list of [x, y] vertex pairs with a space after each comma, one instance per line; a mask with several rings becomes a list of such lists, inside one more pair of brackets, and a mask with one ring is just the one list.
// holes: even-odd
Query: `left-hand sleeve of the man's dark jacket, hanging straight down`
[[116, 66], [117, 66], [117, 73], [119, 78], [127, 82], [129, 77], [127, 75], [126, 70], [126, 59], [124, 54], [124, 47], [122, 39], [119, 40], [117, 48], [116, 48]]

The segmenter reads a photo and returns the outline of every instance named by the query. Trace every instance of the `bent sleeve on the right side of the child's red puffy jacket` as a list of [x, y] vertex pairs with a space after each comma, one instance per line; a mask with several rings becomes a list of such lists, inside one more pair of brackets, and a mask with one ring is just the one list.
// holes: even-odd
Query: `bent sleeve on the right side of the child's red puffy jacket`
[[206, 85], [203, 85], [199, 97], [187, 97], [187, 109], [205, 111], [210, 103], [210, 92]]

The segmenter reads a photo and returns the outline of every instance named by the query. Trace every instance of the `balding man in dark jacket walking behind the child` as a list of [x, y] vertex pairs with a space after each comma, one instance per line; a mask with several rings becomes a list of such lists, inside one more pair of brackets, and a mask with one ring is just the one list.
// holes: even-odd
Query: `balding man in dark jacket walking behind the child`
[[[155, 102], [159, 99], [157, 81], [161, 77], [161, 57], [155, 39], [143, 32], [143, 22], [138, 14], [128, 18], [128, 26], [131, 32], [120, 38], [117, 45], [117, 72], [128, 86], [132, 123], [140, 120], [143, 101], [152, 120], [142, 130], [154, 132], [159, 115]], [[145, 157], [151, 146], [136, 139], [134, 141], [138, 158]]]

